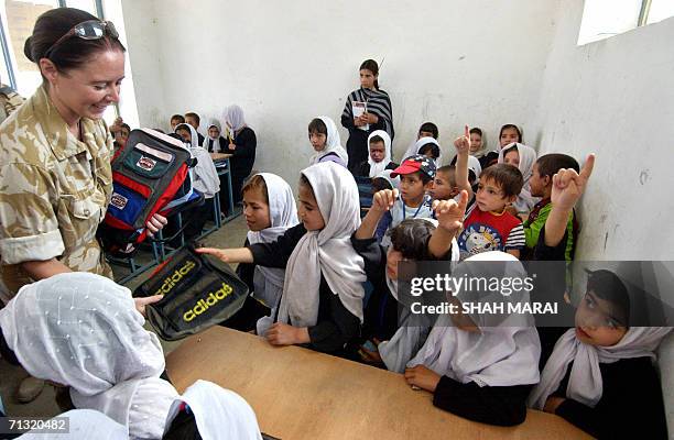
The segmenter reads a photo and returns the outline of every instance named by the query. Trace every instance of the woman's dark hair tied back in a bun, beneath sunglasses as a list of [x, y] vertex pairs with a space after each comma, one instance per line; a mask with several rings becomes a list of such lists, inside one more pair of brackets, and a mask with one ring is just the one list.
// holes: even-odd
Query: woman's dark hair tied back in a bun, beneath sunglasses
[[[46, 57], [54, 63], [58, 70], [69, 70], [85, 64], [97, 52], [127, 51], [119, 40], [111, 37], [109, 34], [98, 40], [84, 40], [73, 35], [52, 47], [76, 24], [89, 20], [98, 21], [90, 13], [75, 8], [56, 8], [46, 11], [35, 21], [33, 34], [28, 37], [23, 45], [24, 55], [36, 64], [40, 63], [40, 59]], [[45, 54], [50, 48], [52, 51], [47, 57]]]

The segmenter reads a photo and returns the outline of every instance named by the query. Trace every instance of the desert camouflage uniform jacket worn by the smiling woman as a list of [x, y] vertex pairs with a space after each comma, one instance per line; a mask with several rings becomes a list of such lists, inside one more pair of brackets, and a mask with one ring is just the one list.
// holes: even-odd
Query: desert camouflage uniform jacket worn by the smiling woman
[[112, 138], [81, 119], [78, 141], [45, 87], [0, 125], [0, 258], [12, 292], [31, 282], [20, 263], [56, 257], [111, 277], [96, 240], [112, 191]]

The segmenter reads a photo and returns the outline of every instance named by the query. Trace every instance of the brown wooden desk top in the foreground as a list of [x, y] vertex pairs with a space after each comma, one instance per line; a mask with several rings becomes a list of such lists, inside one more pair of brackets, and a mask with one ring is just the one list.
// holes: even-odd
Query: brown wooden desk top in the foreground
[[492, 427], [443, 411], [402, 375], [216, 326], [168, 354], [178, 392], [196, 380], [240, 394], [262, 432], [282, 440], [578, 439], [564, 419], [530, 410], [514, 428]]

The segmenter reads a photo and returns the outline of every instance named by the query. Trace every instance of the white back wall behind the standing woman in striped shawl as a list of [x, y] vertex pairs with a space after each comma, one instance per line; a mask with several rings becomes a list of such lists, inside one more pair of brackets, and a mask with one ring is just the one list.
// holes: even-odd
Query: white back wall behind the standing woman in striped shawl
[[312, 154], [308, 122], [326, 114], [341, 127], [370, 57], [384, 59], [396, 158], [425, 120], [450, 151], [464, 123], [487, 130], [490, 145], [501, 124], [525, 124], [558, 0], [122, 3], [141, 124], [167, 128], [172, 113], [194, 110], [205, 125], [239, 103], [258, 134], [256, 168], [294, 187]]

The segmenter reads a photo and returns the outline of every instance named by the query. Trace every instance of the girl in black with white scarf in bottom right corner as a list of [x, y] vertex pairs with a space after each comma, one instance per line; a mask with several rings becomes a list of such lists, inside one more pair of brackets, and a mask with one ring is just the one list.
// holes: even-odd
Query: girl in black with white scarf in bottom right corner
[[[589, 272], [586, 292], [575, 312], [576, 327], [558, 338], [552, 353], [544, 351], [548, 358], [529, 405], [557, 414], [598, 438], [638, 438], [643, 427], [650, 438], [665, 438], [653, 363], [672, 328], [628, 327], [630, 297], [610, 271]], [[542, 329], [544, 346], [554, 342], [554, 330]]]

